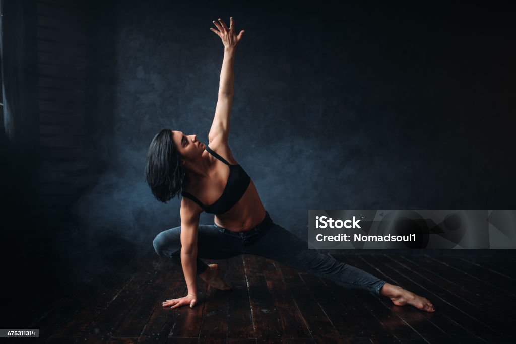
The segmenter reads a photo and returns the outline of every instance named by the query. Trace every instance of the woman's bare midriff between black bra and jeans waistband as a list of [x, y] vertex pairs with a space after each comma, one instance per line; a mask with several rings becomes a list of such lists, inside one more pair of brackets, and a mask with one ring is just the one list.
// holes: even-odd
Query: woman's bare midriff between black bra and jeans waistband
[[245, 232], [265, 218], [265, 208], [253, 181], [240, 200], [223, 214], [215, 215], [215, 224], [233, 232]]

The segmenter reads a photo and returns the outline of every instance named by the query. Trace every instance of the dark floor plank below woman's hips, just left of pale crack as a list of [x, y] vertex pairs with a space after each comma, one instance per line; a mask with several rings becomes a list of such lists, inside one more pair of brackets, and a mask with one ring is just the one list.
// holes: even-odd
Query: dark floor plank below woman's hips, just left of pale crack
[[[233, 289], [228, 293], [228, 342], [230, 339], [256, 338], [247, 292], [244, 256], [228, 259], [225, 280]], [[255, 339], [251, 339], [256, 342]]]

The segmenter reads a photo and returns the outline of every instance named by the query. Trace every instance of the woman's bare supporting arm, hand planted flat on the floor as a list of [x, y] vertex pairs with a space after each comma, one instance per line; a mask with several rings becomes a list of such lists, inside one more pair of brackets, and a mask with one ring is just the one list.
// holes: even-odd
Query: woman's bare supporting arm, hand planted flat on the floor
[[201, 208], [189, 199], [181, 201], [181, 266], [185, 275], [187, 296], [167, 300], [163, 306], [171, 308], [197, 303], [197, 233]]

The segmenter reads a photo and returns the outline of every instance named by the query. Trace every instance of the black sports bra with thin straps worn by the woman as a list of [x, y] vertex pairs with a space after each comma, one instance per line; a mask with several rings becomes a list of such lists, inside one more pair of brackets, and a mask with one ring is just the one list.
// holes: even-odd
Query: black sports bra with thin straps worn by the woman
[[212, 151], [208, 146], [206, 146], [206, 151], [229, 166], [228, 183], [226, 183], [224, 191], [222, 191], [222, 195], [217, 201], [215, 201], [215, 203], [208, 205], [207, 207], [186, 191], [182, 191], [181, 195], [199, 204], [204, 211], [218, 215], [231, 209], [242, 198], [249, 186], [249, 183], [251, 183], [251, 178], [240, 165], [230, 165], [228, 161]]

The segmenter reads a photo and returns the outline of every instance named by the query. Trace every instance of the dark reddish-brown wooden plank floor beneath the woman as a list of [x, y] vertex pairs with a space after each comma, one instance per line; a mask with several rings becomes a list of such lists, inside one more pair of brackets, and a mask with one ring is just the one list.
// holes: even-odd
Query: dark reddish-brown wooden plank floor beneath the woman
[[332, 256], [420, 293], [437, 312], [394, 306], [250, 255], [208, 262], [219, 264], [232, 291], [198, 280], [198, 306], [163, 308], [186, 294], [184, 277], [152, 251], [123, 270], [106, 270], [94, 289], [77, 290], [30, 328], [52, 343], [514, 342], [514, 255]]

